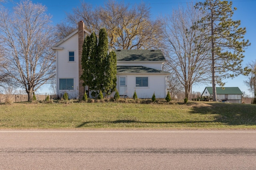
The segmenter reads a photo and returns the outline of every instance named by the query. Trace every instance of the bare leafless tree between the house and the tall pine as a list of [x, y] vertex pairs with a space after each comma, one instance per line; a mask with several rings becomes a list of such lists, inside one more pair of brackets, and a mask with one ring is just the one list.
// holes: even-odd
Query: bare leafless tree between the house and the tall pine
[[202, 33], [193, 29], [200, 18], [199, 10], [192, 4], [180, 7], [162, 18], [162, 49], [166, 56], [165, 70], [174, 74], [182, 83], [185, 97], [193, 83], [205, 83], [210, 71], [207, 51]]

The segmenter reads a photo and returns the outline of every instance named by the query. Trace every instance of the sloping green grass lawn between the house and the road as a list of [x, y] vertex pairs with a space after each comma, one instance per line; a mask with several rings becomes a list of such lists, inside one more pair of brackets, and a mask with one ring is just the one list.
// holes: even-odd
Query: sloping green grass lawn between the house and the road
[[0, 105], [0, 128], [256, 128], [256, 105], [14, 103]]

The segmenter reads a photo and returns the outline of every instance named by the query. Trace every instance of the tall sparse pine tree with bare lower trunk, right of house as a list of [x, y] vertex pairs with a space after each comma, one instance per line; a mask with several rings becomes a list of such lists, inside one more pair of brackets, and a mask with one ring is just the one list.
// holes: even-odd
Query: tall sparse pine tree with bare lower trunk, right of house
[[213, 101], [216, 101], [216, 83], [223, 86], [223, 78], [248, 73], [242, 67], [242, 58], [244, 49], [250, 43], [243, 39], [246, 28], [239, 28], [240, 20], [232, 20], [236, 10], [232, 10], [232, 2], [206, 0], [196, 3], [196, 8], [204, 14], [196, 28], [204, 32], [204, 37], [208, 40], [212, 68], [212, 97]]

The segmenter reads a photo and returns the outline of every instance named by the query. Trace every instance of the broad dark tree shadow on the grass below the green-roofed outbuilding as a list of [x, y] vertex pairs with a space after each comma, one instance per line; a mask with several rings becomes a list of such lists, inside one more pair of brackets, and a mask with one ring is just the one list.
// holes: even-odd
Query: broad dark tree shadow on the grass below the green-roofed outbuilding
[[215, 115], [214, 122], [226, 125], [256, 125], [256, 105], [235, 103], [194, 103], [192, 114]]

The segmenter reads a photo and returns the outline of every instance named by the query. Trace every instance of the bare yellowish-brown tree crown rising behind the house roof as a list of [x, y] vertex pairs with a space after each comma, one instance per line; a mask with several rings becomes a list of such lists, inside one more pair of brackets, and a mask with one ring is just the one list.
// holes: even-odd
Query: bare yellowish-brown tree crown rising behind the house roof
[[[152, 20], [150, 17], [147, 4], [130, 6], [124, 2], [109, 0], [104, 6], [96, 8], [81, 2], [81, 6], [75, 8], [72, 14], [67, 14], [67, 22], [76, 27], [77, 23], [83, 20], [86, 29], [96, 34], [101, 28], [106, 28], [109, 45], [115, 49], [149, 49], [157, 48], [161, 25], [158, 20]], [[64, 24], [58, 26], [58, 32], [66, 34], [63, 31]], [[71, 31], [68, 25], [66, 26], [67, 30]]]

